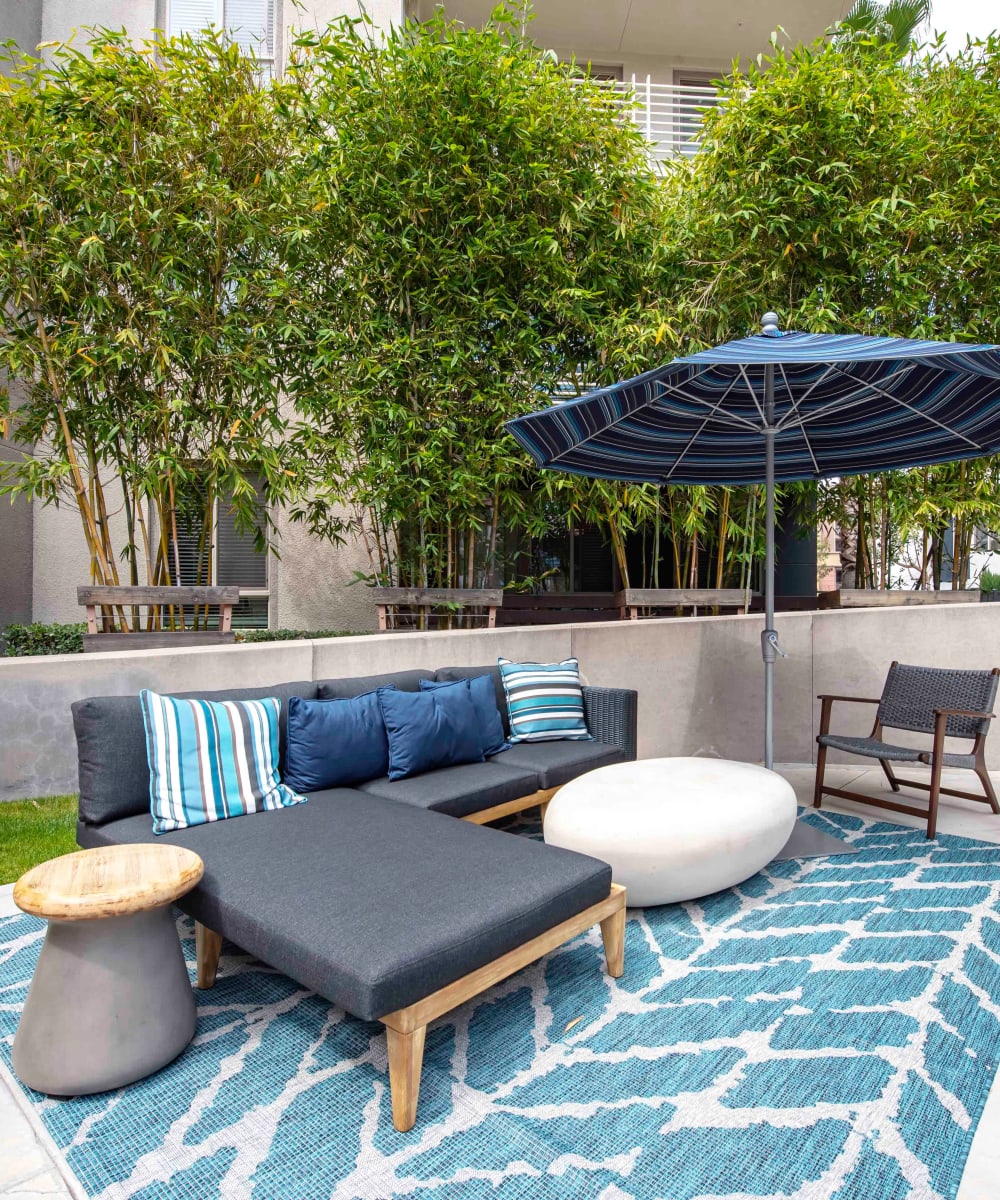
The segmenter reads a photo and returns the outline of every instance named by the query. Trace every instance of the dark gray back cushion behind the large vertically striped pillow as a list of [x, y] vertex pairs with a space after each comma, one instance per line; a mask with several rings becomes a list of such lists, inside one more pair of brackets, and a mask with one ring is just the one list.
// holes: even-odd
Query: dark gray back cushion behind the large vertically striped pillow
[[[276, 683], [265, 688], [233, 688], [227, 691], [175, 691], [172, 696], [194, 700], [261, 700], [276, 696], [279, 718], [279, 769], [285, 766], [287, 704], [291, 696], [311, 700], [310, 680]], [[138, 696], [92, 696], [72, 706], [79, 762], [79, 815], [90, 824], [103, 824], [138, 812], [149, 814], [149, 761], [145, 728]], [[152, 833], [150, 826], [150, 834]]]

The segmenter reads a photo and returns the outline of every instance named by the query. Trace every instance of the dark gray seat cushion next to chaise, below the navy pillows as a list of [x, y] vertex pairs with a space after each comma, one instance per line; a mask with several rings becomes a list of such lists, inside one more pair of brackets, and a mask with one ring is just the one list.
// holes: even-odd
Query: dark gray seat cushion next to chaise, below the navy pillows
[[533, 770], [508, 767], [501, 755], [491, 762], [469, 762], [460, 767], [443, 767], [411, 779], [372, 779], [358, 790], [388, 800], [401, 800], [419, 809], [433, 809], [453, 817], [491, 809], [531, 796], [539, 788]]

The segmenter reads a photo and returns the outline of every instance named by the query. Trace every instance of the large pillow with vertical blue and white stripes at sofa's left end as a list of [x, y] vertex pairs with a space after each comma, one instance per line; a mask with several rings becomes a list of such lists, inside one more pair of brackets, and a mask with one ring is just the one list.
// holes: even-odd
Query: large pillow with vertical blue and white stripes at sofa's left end
[[277, 772], [281, 701], [178, 700], [139, 692], [152, 832], [300, 804]]

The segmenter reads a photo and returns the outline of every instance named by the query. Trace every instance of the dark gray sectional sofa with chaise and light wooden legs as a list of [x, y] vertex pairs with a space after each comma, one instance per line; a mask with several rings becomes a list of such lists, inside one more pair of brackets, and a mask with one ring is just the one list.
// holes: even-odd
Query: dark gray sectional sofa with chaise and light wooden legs
[[[490, 666], [197, 695], [276, 696], [283, 713], [292, 696], [349, 697], [388, 684], [417, 691], [421, 679], [486, 673], [507, 725]], [[417, 1117], [430, 1021], [595, 924], [609, 973], [619, 976], [625, 898], [610, 868], [484, 827], [544, 808], [586, 770], [635, 757], [636, 694], [583, 688], [583, 702], [593, 742], [519, 743], [483, 763], [313, 792], [306, 804], [163, 834], [205, 864], [180, 901], [196, 920], [198, 985], [214, 984], [227, 937], [348, 1013], [382, 1021], [393, 1120], [405, 1132]], [[79, 845], [152, 841], [138, 696], [78, 701], [73, 724]], [[283, 737], [282, 724], [282, 755]]]

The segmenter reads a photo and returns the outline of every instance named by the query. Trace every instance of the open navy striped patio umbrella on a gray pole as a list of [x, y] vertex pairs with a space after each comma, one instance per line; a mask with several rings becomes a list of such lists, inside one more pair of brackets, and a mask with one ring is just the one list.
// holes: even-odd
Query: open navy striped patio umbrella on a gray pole
[[507, 424], [543, 467], [766, 485], [764, 762], [773, 764], [774, 484], [1000, 451], [1000, 346], [764, 331]]

